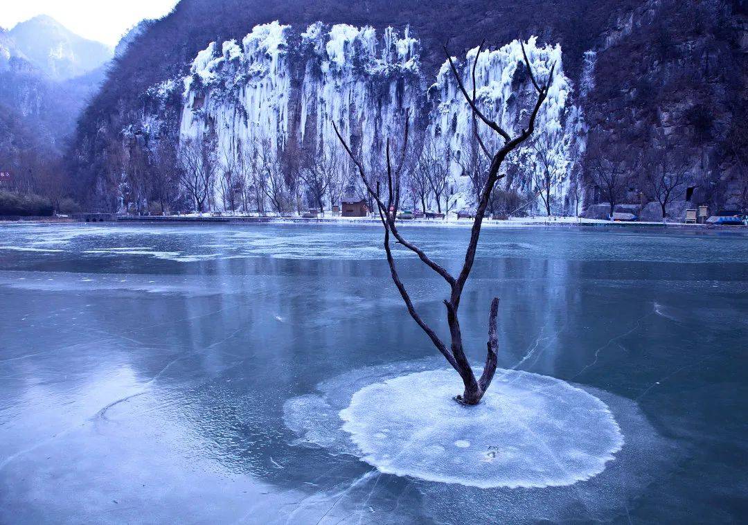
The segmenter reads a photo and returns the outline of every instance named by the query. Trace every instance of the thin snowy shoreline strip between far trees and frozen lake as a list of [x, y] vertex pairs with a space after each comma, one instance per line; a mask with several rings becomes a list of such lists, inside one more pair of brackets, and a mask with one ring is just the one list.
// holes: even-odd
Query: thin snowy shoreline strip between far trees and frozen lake
[[[411, 219], [398, 221], [401, 227], [441, 227], [441, 228], [470, 228], [471, 219]], [[301, 217], [236, 217], [236, 216], [199, 216], [199, 215], [153, 215], [153, 216], [120, 216], [111, 220], [111, 215], [102, 220], [84, 220], [82, 218], [55, 217], [0, 217], [2, 224], [327, 224], [331, 226], [381, 226], [378, 218], [301, 218]], [[527, 228], [527, 227], [562, 227], [562, 228], [646, 228], [658, 230], [690, 230], [690, 231], [740, 231], [748, 230], [747, 225], [719, 225], [719, 224], [684, 224], [662, 222], [613, 222], [602, 219], [577, 217], [533, 217], [512, 218], [506, 221], [484, 219], [483, 228]]]

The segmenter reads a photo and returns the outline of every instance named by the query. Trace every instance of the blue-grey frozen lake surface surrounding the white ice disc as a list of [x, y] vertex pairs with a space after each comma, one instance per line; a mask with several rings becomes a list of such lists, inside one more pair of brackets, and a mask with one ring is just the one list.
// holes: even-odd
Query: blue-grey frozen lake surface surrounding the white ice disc
[[[403, 232], [459, 267], [467, 229]], [[444, 281], [396, 254], [444, 330]], [[499, 366], [616, 417], [599, 475], [385, 474], [320, 426], [367, 384], [446, 366], [378, 227], [0, 226], [0, 523], [747, 519], [748, 236], [484, 230], [461, 308], [476, 362], [494, 295]]]

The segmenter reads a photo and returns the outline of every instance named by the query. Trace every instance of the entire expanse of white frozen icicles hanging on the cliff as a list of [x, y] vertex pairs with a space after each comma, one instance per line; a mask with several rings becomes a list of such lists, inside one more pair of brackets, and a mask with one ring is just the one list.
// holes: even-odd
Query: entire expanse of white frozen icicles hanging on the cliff
[[[538, 129], [557, 156], [560, 169], [573, 162], [569, 132], [571, 86], [563, 74], [560, 46], [525, 44], [539, 82], [555, 65], [548, 100], [539, 114]], [[519, 41], [500, 49], [477, 49], [456, 59], [468, 89], [470, 66], [476, 67], [476, 94], [485, 113], [514, 135], [526, 124], [535, 92], [524, 67]], [[420, 61], [418, 40], [392, 28], [355, 28], [317, 22], [304, 31], [279, 22], [258, 25], [241, 43], [211, 43], [194, 59], [184, 80], [180, 140], [215, 144], [219, 163], [230, 164], [246, 148], [275, 156], [292, 166], [304, 156], [337, 147], [333, 123], [368, 164], [381, 162], [388, 136], [399, 138], [406, 115], [411, 121], [411, 144], [417, 150], [432, 141], [453, 159], [451, 209], [470, 206], [474, 197], [464, 176], [464, 156], [473, 140], [471, 112], [450, 73], [441, 67], [428, 79]], [[500, 138], [482, 129], [488, 143]], [[531, 193], [536, 169], [528, 144], [516, 156], [518, 176], [512, 184]], [[341, 165], [345, 165], [341, 162]], [[291, 169], [291, 168], [289, 168]], [[341, 169], [341, 176], [349, 176]], [[344, 181], [349, 190], [355, 178]], [[221, 185], [216, 185], [220, 193]], [[225, 191], [225, 190], [223, 190]], [[557, 191], [563, 191], [562, 185]], [[214, 202], [224, 202], [216, 194]]]

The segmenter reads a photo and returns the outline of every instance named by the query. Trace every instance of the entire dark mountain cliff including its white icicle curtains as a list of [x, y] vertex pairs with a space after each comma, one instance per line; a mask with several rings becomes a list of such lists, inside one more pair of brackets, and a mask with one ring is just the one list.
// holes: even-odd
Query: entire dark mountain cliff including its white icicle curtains
[[[640, 200], [650, 150], [662, 144], [686, 159], [689, 185], [714, 206], [727, 202], [726, 181], [741, 178], [746, 141], [732, 140], [746, 135], [747, 120], [739, 117], [748, 78], [741, 2], [579, 0], [551, 11], [543, 1], [371, 0], [357, 9], [337, 0], [183, 0], [120, 58], [82, 119], [70, 152], [79, 192], [108, 208], [146, 203], [153, 196], [132, 178], [141, 171], [129, 159], [165, 141], [210, 144], [217, 173], [236, 171], [248, 149], [254, 158], [260, 152], [295, 185], [290, 179], [307, 159], [337, 145], [333, 122], [376, 167], [407, 114], [414, 156], [432, 150], [448, 167], [442, 205], [469, 207], [472, 120], [441, 44], [454, 37], [469, 79], [476, 51], [468, 49], [482, 34], [491, 51], [477, 58], [479, 100], [508, 129], [524, 124], [532, 98], [515, 39], [539, 35], [526, 40], [539, 76], [557, 64], [536, 134], [542, 147], [527, 144], [505, 166], [505, 189], [515, 197], [536, 194], [542, 168], [556, 182], [554, 212], [598, 202], [590, 159], [604, 154], [624, 163], [622, 200]], [[533, 22], [539, 12], [541, 25]], [[361, 191], [340, 163], [346, 191]], [[221, 188], [217, 180], [211, 206], [227, 206], [235, 183]], [[112, 197], [123, 187], [127, 196]], [[438, 197], [429, 199], [430, 207]]]

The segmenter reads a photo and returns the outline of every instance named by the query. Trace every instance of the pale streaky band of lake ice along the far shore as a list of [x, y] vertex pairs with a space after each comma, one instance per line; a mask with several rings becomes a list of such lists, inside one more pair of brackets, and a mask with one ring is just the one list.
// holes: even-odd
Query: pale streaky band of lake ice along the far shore
[[[449, 225], [456, 226], [454, 222]], [[465, 257], [465, 230], [469, 223], [463, 222], [459, 227], [442, 226], [439, 221], [434, 221], [430, 227], [408, 224], [403, 226], [403, 234], [424, 248], [426, 253], [438, 254], [444, 260]], [[509, 227], [494, 227], [493, 224], [485, 226], [477, 253], [479, 260], [536, 258], [542, 254], [553, 260], [612, 261], [616, 264], [625, 261], [687, 263], [685, 268], [690, 269], [686, 274], [693, 274], [693, 263], [733, 263], [736, 251], [740, 252], [745, 242], [741, 236], [714, 236], [707, 241], [694, 233], [675, 231], [666, 236], [644, 236], [628, 228], [575, 230], [572, 233], [559, 227], [527, 227], [527, 231], [519, 232]], [[437, 235], [434, 230], [438, 231]], [[142, 258], [180, 265], [219, 264], [221, 261], [260, 257], [278, 260], [326, 260], [331, 257], [335, 260], [384, 260], [381, 225], [375, 223], [368, 226], [241, 224], [222, 227], [9, 224], [3, 227], [3, 233], [0, 256], [17, 256], [24, 260], [38, 255], [50, 260], [75, 259], [87, 264], [99, 259], [117, 261], [125, 257], [131, 257], [133, 263], [135, 258]], [[699, 241], [694, 242], [697, 236]], [[705, 249], [705, 242], [708, 242], [708, 249]], [[398, 247], [393, 246], [397, 259], [417, 257]], [[629, 286], [630, 280], [627, 277], [620, 283]], [[714, 286], [726, 286], [732, 292], [744, 289], [742, 281], [728, 284], [719, 280], [680, 279], [673, 280], [669, 286], [684, 286], [690, 291], [695, 291], [695, 287], [711, 289]]]

